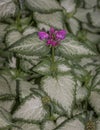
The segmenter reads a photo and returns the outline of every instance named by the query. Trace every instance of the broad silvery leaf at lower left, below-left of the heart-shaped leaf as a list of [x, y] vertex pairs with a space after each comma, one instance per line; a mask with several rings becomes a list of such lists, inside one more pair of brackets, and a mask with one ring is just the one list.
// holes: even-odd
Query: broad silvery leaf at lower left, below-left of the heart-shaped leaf
[[24, 121], [41, 121], [46, 115], [41, 99], [38, 97], [27, 98], [14, 113], [13, 118]]

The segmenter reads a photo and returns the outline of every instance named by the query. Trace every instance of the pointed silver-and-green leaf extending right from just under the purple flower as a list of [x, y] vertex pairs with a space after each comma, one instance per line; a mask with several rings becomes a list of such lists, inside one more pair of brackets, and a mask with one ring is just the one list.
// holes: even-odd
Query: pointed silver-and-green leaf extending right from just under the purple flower
[[73, 37], [67, 36], [57, 48], [58, 54], [64, 57], [82, 57], [96, 55], [85, 43], [75, 40]]

